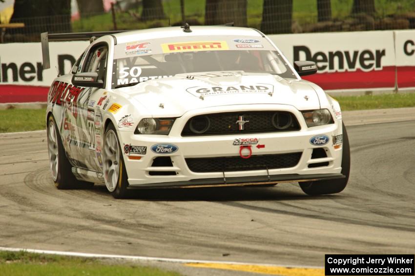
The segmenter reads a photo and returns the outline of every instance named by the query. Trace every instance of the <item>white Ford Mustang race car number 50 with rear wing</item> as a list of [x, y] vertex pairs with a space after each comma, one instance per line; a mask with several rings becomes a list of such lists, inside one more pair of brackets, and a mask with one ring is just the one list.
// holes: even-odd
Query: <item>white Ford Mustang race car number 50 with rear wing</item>
[[48, 92], [59, 189], [105, 184], [124, 198], [138, 188], [345, 188], [350, 149], [340, 106], [300, 77], [316, 73], [314, 62], [292, 66], [250, 28], [186, 24], [95, 36]]

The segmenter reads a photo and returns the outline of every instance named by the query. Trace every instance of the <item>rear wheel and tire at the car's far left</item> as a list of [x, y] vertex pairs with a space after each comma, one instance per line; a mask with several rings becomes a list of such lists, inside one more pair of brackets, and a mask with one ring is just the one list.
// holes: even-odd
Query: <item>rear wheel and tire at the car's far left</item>
[[94, 186], [93, 183], [77, 180], [73, 175], [72, 166], [66, 157], [61, 134], [53, 115], [50, 115], [47, 121], [47, 145], [52, 180], [58, 189], [79, 189]]

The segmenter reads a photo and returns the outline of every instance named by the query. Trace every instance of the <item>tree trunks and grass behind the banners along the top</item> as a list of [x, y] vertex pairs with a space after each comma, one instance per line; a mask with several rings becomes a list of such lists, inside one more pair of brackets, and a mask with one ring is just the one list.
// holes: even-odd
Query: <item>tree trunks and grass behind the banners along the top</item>
[[[1, 1], [1, 0], [0, 0]], [[415, 28], [415, 0], [15, 0], [6, 41], [37, 41], [39, 33], [143, 29], [181, 25], [249, 26], [266, 34]], [[297, 7], [295, 9], [295, 7]]]

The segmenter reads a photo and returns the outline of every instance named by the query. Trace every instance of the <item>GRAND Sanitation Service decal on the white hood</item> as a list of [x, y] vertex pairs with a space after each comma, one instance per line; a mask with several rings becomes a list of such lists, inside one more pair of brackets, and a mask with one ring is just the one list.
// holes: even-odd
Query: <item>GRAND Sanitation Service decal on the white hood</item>
[[201, 95], [214, 96], [214, 95], [226, 95], [226, 94], [238, 94], [238, 93], [273, 93], [274, 86], [271, 84], [256, 83], [248, 85], [229, 85], [229, 86], [211, 86], [211, 87], [201, 87], [195, 86], [186, 89], [190, 94], [200, 97]]

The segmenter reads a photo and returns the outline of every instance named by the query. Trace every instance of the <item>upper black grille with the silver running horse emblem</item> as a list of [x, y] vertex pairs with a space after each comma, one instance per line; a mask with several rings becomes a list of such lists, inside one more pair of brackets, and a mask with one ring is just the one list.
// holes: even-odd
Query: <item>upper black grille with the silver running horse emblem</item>
[[[243, 129], [237, 123], [243, 116]], [[249, 122], [248, 122], [249, 121]], [[198, 115], [190, 118], [182, 136], [224, 135], [300, 130], [295, 115], [288, 111], [239, 111]]]

